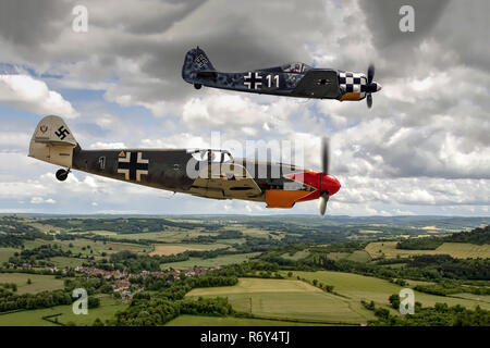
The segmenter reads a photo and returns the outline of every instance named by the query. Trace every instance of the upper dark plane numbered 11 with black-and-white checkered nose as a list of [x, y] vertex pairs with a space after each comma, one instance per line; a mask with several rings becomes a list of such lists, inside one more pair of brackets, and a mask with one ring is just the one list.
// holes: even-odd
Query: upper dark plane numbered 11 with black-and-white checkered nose
[[222, 73], [212, 66], [199, 47], [185, 54], [182, 77], [196, 89], [203, 86], [298, 98], [363, 100], [372, 105], [372, 92], [381, 90], [373, 80], [375, 66], [363, 73], [335, 69], [316, 69], [304, 63], [253, 70], [244, 73]]

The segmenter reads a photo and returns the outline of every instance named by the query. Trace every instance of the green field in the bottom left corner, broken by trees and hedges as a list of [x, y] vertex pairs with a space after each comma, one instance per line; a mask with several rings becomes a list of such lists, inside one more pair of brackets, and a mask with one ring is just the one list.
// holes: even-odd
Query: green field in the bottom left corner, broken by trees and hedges
[[121, 300], [103, 296], [100, 297], [100, 307], [89, 309], [87, 315], [75, 315], [72, 306], [57, 306], [53, 308], [0, 314], [0, 326], [53, 326], [56, 324], [42, 319], [42, 316], [53, 314], [61, 314], [57, 318], [58, 322], [62, 324], [72, 322], [79, 326], [91, 325], [97, 318], [102, 321], [112, 319], [117, 311], [123, 310], [126, 307], [127, 304]]

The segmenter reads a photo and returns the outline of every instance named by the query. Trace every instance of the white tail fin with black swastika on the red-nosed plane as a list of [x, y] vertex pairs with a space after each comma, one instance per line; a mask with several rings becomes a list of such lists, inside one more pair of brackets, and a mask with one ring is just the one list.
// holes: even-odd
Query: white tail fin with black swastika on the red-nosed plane
[[59, 116], [46, 116], [36, 126], [29, 145], [29, 157], [72, 167], [77, 146], [72, 132]]

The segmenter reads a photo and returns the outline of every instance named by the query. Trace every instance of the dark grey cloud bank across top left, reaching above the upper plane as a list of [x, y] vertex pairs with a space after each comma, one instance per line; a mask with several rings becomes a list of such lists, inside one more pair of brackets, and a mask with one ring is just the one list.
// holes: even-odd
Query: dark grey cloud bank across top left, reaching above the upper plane
[[[0, 24], [0, 36], [40, 69], [53, 62], [86, 61], [83, 74], [73, 76], [78, 82], [115, 75], [119, 84], [111, 89], [111, 98], [131, 96], [136, 103], [177, 102], [193, 94], [181, 78], [181, 67], [185, 52], [197, 45], [223, 71], [309, 63], [305, 47], [309, 36], [331, 28], [321, 1], [170, 0], [147, 1], [144, 7], [134, 1], [85, 1], [89, 30], [75, 34], [71, 30], [75, 4], [4, 1], [2, 15], [10, 20]], [[10, 9], [14, 10], [11, 16]], [[139, 72], [118, 71], [118, 60], [137, 62]]]

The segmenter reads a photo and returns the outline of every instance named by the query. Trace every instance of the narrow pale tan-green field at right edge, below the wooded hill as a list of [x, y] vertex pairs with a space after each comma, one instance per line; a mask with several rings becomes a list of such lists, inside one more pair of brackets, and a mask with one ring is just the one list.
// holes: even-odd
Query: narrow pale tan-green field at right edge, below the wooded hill
[[414, 254], [450, 254], [456, 259], [490, 258], [490, 245], [482, 246], [468, 243], [444, 243], [436, 250], [405, 250], [396, 249], [397, 241], [373, 241], [366, 246], [366, 251], [372, 258], [384, 256], [388, 259], [409, 257]]

